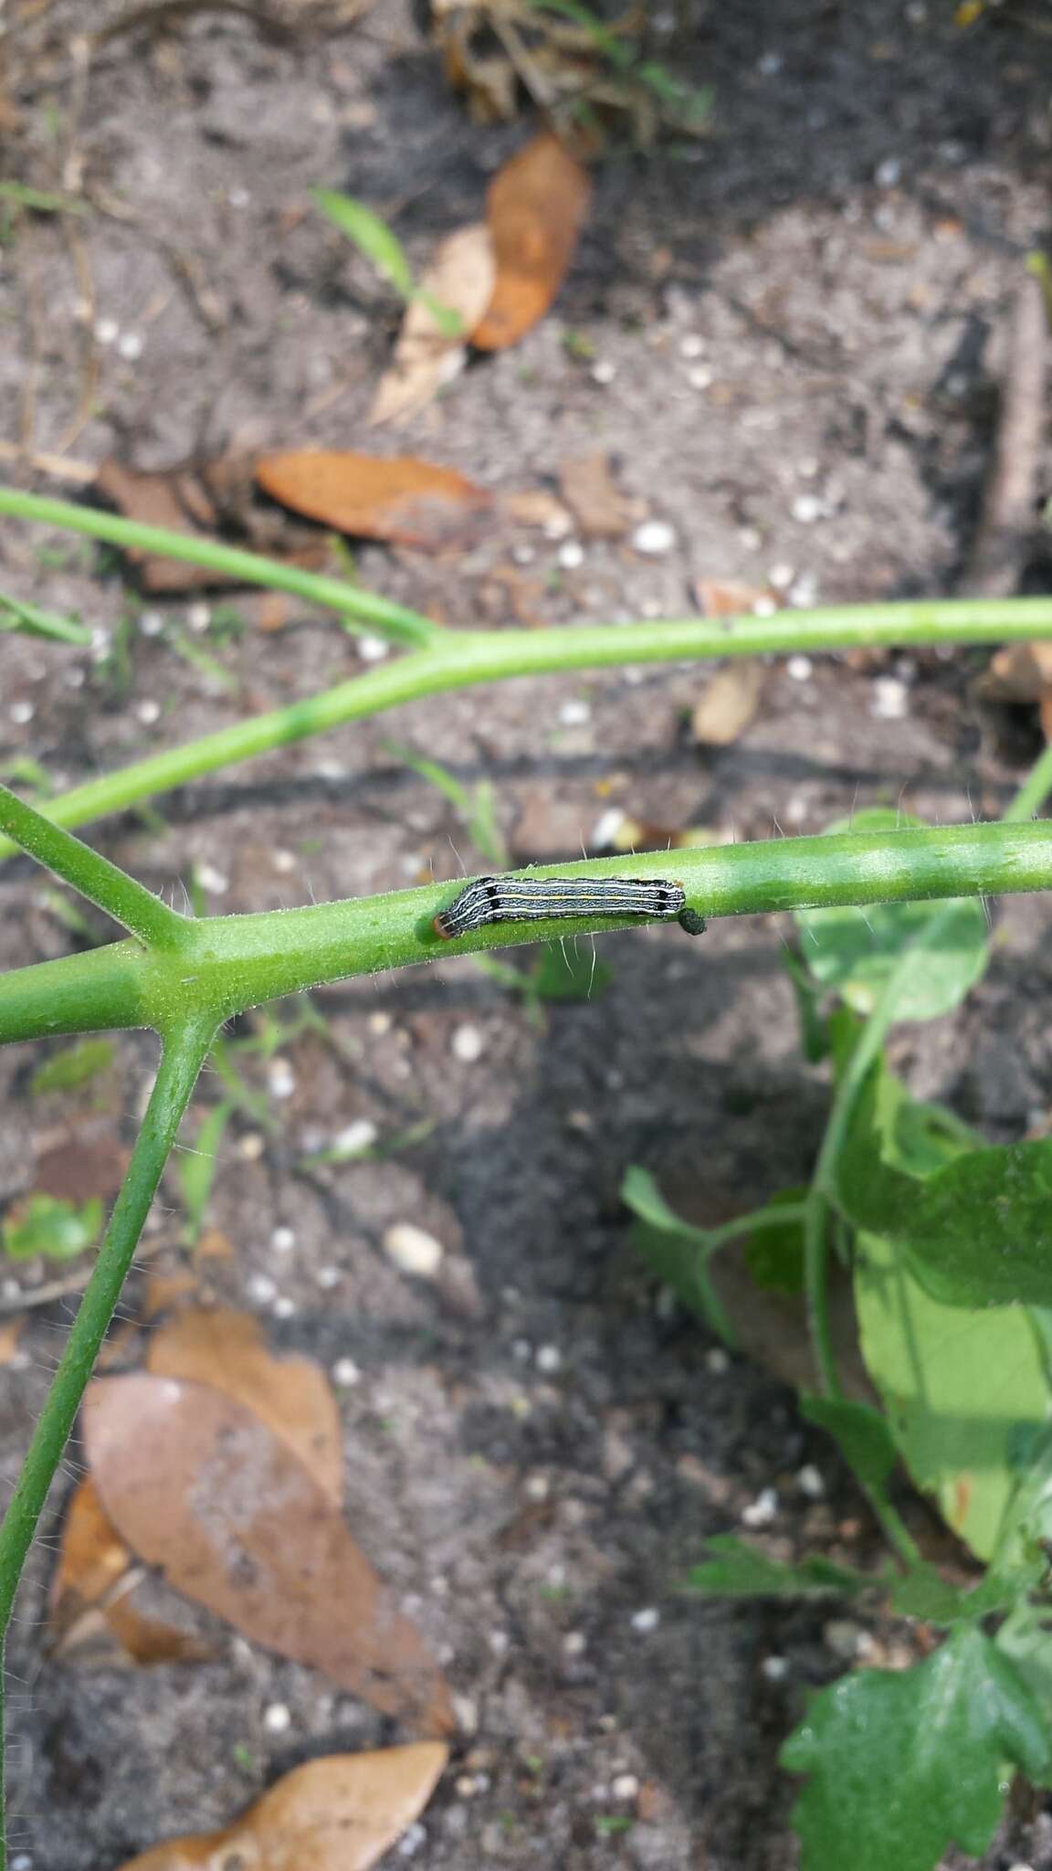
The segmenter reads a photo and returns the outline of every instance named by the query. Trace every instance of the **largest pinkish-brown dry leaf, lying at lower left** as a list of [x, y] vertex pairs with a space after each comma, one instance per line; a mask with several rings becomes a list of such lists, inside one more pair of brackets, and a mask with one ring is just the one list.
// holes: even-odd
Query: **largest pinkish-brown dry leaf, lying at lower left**
[[120, 1536], [176, 1590], [384, 1714], [451, 1733], [419, 1632], [258, 1416], [208, 1385], [105, 1377], [84, 1400], [84, 1443]]

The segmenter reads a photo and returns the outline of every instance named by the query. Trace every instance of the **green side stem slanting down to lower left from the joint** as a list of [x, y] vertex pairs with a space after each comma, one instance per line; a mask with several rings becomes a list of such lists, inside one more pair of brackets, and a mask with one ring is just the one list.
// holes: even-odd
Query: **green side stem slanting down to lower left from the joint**
[[[92, 1375], [99, 1345], [116, 1302], [161, 1171], [176, 1141], [182, 1115], [208, 1055], [215, 1027], [212, 1020], [189, 1020], [165, 1038], [161, 1065], [131, 1164], [116, 1199], [110, 1226], [99, 1248], [84, 1298], [69, 1328], [62, 1362], [34, 1429], [26, 1459], [4, 1521], [0, 1523], [0, 1648], [11, 1622], [11, 1607], [37, 1521], [43, 1514], [54, 1471], [69, 1439], [80, 1398]], [[4, 1671], [0, 1669], [0, 1690]], [[2, 1693], [0, 1693], [2, 1727]], [[0, 1871], [7, 1862], [4, 1847], [4, 1789], [0, 1774]]]

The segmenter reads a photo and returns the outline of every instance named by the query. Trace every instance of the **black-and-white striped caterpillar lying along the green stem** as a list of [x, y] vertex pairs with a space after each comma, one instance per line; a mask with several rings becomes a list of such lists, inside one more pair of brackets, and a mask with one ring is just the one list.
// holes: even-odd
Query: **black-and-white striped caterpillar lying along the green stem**
[[676, 919], [689, 936], [706, 921], [687, 909], [681, 883], [666, 877], [475, 877], [432, 922], [442, 941], [470, 936], [494, 922], [547, 922], [569, 917]]

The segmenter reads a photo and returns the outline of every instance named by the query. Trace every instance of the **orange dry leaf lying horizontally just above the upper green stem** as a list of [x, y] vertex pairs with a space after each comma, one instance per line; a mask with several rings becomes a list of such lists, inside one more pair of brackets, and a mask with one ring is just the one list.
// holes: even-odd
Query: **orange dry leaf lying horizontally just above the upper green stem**
[[474, 539], [489, 494], [455, 468], [436, 468], [416, 455], [354, 455], [344, 449], [301, 449], [264, 455], [260, 486], [324, 526], [361, 539], [440, 552]]

